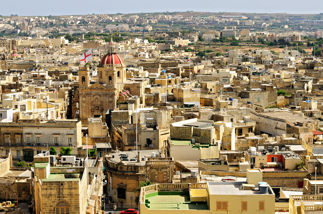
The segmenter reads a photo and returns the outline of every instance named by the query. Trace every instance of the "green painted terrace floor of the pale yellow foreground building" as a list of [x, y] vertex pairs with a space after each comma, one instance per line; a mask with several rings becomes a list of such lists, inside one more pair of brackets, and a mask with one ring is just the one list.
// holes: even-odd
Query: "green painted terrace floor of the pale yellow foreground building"
[[188, 191], [147, 194], [145, 206], [149, 209], [209, 209], [206, 202], [191, 202]]

